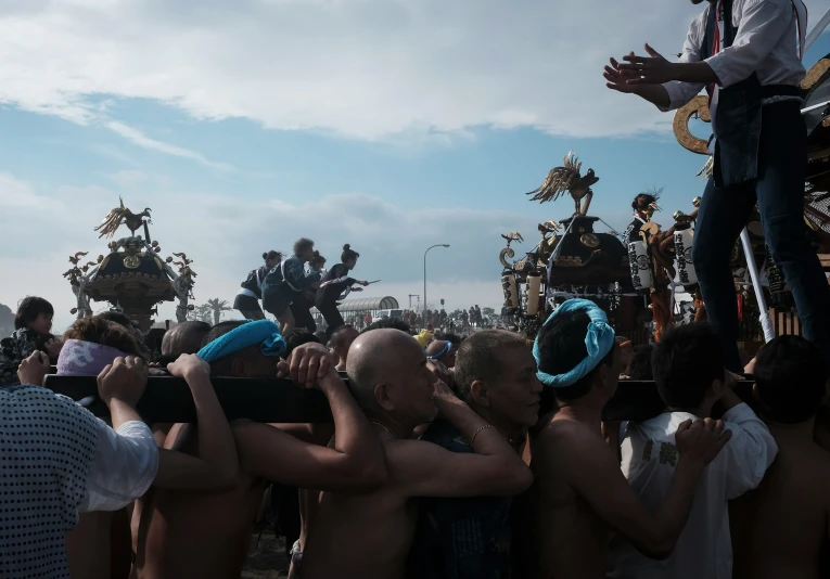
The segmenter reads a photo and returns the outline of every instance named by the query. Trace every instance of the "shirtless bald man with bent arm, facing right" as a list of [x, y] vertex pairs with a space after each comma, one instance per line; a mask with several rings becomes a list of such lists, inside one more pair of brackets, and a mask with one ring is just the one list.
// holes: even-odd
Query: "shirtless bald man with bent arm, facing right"
[[[510, 497], [533, 481], [507, 440], [427, 369], [418, 343], [396, 330], [361, 334], [348, 356], [349, 387], [375, 427], [390, 469], [371, 493], [323, 492], [304, 543], [302, 579], [400, 579], [416, 526], [413, 497]], [[443, 415], [475, 453], [411, 439]]]

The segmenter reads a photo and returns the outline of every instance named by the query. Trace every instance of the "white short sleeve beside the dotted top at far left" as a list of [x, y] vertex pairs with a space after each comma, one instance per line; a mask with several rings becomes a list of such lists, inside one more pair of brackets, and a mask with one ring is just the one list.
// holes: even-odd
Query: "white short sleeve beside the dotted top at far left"
[[118, 511], [142, 497], [158, 472], [158, 447], [143, 422], [126, 422], [113, 430], [98, 421], [95, 460], [87, 476], [80, 512]]

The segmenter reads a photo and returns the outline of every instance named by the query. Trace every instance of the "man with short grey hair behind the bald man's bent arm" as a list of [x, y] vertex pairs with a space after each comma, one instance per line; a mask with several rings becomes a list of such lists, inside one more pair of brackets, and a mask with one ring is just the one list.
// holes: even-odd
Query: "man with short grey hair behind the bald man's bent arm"
[[[499, 330], [474, 333], [458, 349], [454, 375], [459, 397], [521, 455], [527, 429], [538, 421], [542, 389], [524, 337]], [[447, 421], [435, 421], [421, 439], [452, 452], [473, 452]], [[512, 497], [420, 499], [408, 577], [508, 579], [512, 501]]]

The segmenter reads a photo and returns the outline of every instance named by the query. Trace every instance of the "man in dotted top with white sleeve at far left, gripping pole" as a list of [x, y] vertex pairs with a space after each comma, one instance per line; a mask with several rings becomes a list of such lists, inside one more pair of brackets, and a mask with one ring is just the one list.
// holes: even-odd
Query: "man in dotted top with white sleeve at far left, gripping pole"
[[[0, 578], [69, 577], [64, 536], [79, 512], [117, 511], [156, 476], [158, 450], [135, 410], [146, 384], [141, 359], [118, 359], [99, 376], [113, 427], [41, 384], [49, 358], [18, 370], [0, 390]], [[29, 386], [27, 386], [29, 384]]]

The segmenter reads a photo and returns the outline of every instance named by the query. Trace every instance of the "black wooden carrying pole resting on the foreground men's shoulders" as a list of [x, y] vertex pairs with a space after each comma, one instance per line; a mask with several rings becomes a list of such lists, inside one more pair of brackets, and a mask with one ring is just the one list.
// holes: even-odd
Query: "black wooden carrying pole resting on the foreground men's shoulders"
[[[345, 377], [345, 376], [344, 376]], [[330, 423], [329, 401], [319, 390], [309, 390], [290, 379], [212, 378], [216, 396], [228, 420], [248, 419], [271, 423]], [[736, 393], [753, 406], [752, 382], [736, 385]], [[43, 386], [75, 401], [92, 398], [89, 410], [107, 416], [98, 398], [94, 376], [50, 374]], [[605, 421], [646, 421], [663, 412], [663, 401], [653, 382], [622, 381], [603, 410]], [[151, 376], [137, 408], [148, 423], [196, 422], [196, 409], [187, 383], [180, 378]]]

